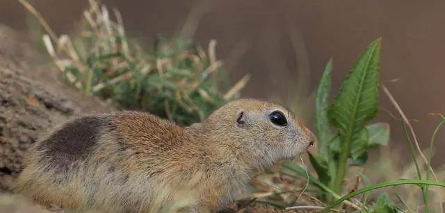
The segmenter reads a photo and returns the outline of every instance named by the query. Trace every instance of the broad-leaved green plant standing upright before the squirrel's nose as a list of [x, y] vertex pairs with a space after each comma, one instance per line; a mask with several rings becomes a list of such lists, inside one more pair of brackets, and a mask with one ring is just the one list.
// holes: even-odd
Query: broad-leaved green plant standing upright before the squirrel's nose
[[[366, 49], [346, 76], [339, 94], [329, 106], [332, 60], [327, 63], [316, 93], [318, 153], [309, 159], [324, 185], [337, 194], [351, 165], [366, 162], [370, 148], [386, 145], [386, 123], [366, 125], [378, 112], [380, 39]], [[331, 126], [336, 130], [332, 130]], [[348, 159], [352, 161], [348, 163]]]

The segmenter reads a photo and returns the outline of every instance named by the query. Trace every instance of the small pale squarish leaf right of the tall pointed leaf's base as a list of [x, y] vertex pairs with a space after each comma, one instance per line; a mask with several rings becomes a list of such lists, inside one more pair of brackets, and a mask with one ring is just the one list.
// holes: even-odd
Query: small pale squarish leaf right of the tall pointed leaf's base
[[366, 126], [369, 135], [368, 147], [387, 146], [389, 142], [389, 123], [373, 123]]

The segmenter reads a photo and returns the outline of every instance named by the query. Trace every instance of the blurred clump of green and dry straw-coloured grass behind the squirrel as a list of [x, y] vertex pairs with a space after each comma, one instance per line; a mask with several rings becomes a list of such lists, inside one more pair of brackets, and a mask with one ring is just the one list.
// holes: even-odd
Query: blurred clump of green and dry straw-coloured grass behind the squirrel
[[44, 46], [64, 79], [81, 92], [110, 99], [122, 108], [188, 125], [238, 98], [248, 82], [245, 76], [230, 87], [222, 62], [216, 59], [215, 41], [204, 51], [191, 40], [156, 37], [147, 51], [129, 40], [118, 10], [113, 10], [114, 21], [106, 6], [94, 0], [83, 12], [81, 31], [59, 37], [29, 3], [20, 2], [47, 31]]

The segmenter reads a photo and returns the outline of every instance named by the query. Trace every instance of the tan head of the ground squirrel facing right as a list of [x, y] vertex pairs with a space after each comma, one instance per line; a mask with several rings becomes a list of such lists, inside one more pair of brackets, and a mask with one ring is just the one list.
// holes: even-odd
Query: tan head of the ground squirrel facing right
[[314, 144], [314, 135], [292, 112], [255, 99], [227, 103], [200, 126], [212, 142], [256, 169], [293, 159]]

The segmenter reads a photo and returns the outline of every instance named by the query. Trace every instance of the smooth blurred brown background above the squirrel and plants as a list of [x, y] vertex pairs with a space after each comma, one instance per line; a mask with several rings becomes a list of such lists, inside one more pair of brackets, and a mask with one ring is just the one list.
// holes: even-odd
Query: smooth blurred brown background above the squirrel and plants
[[[88, 1], [29, 1], [58, 34], [76, 28]], [[129, 37], [186, 35], [216, 53], [230, 78], [252, 78], [243, 97], [299, 105], [312, 120], [312, 99], [326, 62], [333, 58], [332, 92], [373, 40], [382, 37], [381, 83], [401, 105], [422, 147], [444, 113], [445, 1], [101, 1], [118, 8]], [[0, 0], [0, 22], [29, 32], [17, 1]], [[186, 25], [187, 27], [184, 27]], [[380, 92], [378, 121], [391, 123], [391, 151], [409, 157], [398, 113]], [[394, 117], [394, 115], [396, 117]], [[440, 133], [435, 152], [445, 148]], [[404, 154], [406, 153], [406, 154]], [[435, 155], [433, 166], [445, 158]]]

